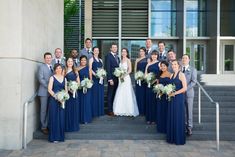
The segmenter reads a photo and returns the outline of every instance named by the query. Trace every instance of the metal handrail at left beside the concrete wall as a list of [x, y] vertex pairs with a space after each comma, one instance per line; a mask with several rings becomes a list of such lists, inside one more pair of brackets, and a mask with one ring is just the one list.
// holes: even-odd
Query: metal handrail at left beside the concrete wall
[[23, 149], [27, 148], [27, 120], [28, 120], [28, 105], [34, 101], [34, 99], [37, 96], [37, 92], [34, 93], [34, 95], [24, 103], [24, 111], [23, 111], [23, 140], [22, 140], [22, 146]]

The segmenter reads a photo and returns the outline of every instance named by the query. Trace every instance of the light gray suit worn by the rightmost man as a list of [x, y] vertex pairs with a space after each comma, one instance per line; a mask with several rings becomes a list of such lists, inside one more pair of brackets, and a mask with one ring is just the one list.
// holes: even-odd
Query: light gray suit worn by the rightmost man
[[186, 113], [186, 126], [188, 128], [193, 127], [193, 99], [194, 99], [194, 89], [193, 87], [197, 82], [197, 70], [189, 66], [185, 72], [185, 77], [187, 80], [187, 91], [185, 93], [185, 113]]

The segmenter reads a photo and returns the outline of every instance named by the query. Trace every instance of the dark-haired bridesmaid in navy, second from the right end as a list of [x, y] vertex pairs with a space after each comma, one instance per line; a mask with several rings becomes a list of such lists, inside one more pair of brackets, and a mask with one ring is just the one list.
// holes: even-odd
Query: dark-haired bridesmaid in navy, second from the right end
[[[162, 61], [160, 63], [160, 74], [158, 83], [162, 85], [167, 85], [170, 82], [171, 73], [168, 71], [169, 63], [166, 61]], [[157, 131], [160, 133], [166, 133], [166, 119], [167, 119], [167, 107], [168, 100], [166, 95], [163, 94], [161, 98], [157, 98]]]

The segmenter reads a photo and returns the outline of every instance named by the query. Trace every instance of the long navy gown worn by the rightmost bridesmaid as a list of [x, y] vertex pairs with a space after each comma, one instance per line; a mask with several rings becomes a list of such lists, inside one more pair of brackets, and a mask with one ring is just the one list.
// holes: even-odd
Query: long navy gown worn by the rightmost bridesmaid
[[[170, 83], [175, 84], [176, 91], [183, 87], [179, 79], [179, 72], [171, 78]], [[167, 142], [176, 145], [185, 144], [185, 109], [184, 94], [177, 94], [171, 98], [167, 111]]]

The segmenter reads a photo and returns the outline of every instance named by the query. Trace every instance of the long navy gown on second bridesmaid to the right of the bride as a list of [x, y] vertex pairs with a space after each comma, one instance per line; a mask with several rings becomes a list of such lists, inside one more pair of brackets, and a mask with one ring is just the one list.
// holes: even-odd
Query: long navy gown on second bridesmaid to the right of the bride
[[[159, 62], [150, 65], [147, 72], [154, 73], [156, 76], [159, 74]], [[146, 121], [151, 123], [157, 122], [157, 98], [156, 94], [153, 92], [153, 86], [148, 88], [146, 86]]]

